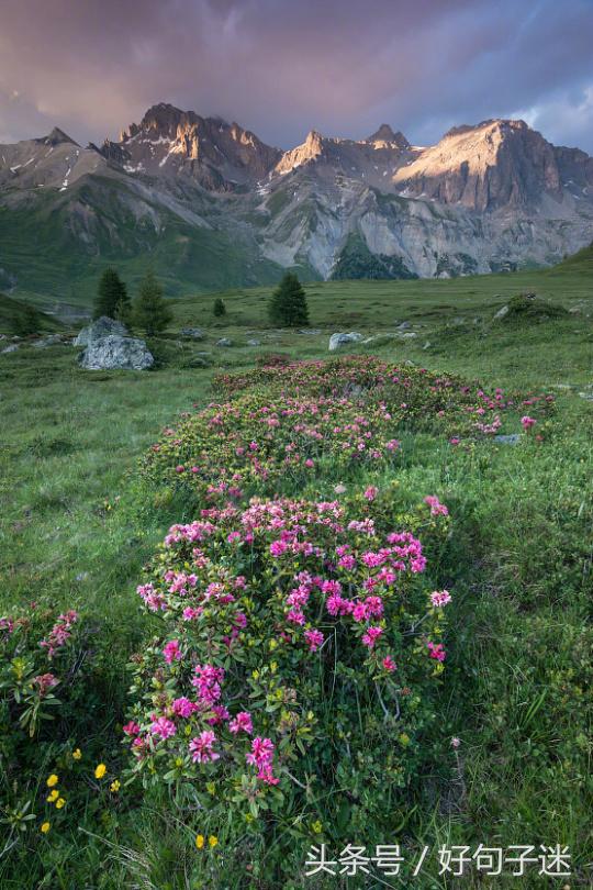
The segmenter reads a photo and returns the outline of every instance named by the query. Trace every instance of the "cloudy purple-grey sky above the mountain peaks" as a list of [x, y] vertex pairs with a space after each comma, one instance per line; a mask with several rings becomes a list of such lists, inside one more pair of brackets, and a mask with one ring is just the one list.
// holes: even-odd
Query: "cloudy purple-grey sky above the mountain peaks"
[[0, 143], [166, 101], [280, 147], [521, 116], [593, 154], [593, 0], [0, 0]]

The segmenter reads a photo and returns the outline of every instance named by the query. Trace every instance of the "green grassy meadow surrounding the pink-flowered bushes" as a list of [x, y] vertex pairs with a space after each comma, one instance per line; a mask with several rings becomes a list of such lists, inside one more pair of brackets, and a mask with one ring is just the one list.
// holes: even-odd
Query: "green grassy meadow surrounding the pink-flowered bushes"
[[[351, 843], [371, 848], [400, 843], [415, 860], [427, 846], [423, 875], [409, 885], [419, 890], [485, 886], [488, 879], [471, 871], [457, 883], [439, 876], [440, 845], [561, 843], [570, 846], [573, 876], [558, 886], [589, 886], [593, 294], [583, 274], [589, 262], [583, 252], [555, 270], [533, 274], [315, 283], [307, 290], [311, 325], [320, 333], [270, 329], [269, 288], [224, 292], [222, 320], [212, 316], [212, 296], [188, 297], [175, 302], [171, 331], [149, 344], [159, 359], [150, 372], [81, 371], [76, 351], [65, 345], [0, 355], [2, 611], [35, 598], [44, 607], [77, 608], [90, 622], [78, 650], [88, 674], [78, 710], [44, 730], [22, 774], [0, 771], [7, 813], [29, 801], [35, 814], [24, 831], [10, 835], [14, 844], [0, 859], [2, 888], [340, 886], [304, 878], [299, 858], [304, 843], [332, 844], [324, 801], [315, 820], [280, 823], [278, 842], [286, 843], [284, 832], [295, 852], [290, 878], [275, 882], [266, 878], [275, 845], [258, 847], [249, 820], [237, 841], [224, 808], [208, 816], [195, 804], [182, 805], [174, 790], [144, 797], [123, 782], [120, 792], [110, 793], [93, 769], [107, 764], [111, 781], [125, 767], [126, 663], [146, 650], [156, 632], [156, 619], [139, 610], [135, 593], [142, 566], [172, 522], [193, 516], [175, 486], [150, 494], [143, 489], [138, 459], [180, 412], [223, 398], [212, 387], [216, 371], [248, 370], [269, 352], [325, 358], [333, 331], [380, 334], [402, 321], [416, 337], [380, 340], [356, 351], [401, 367], [413, 363], [457, 372], [492, 391], [521, 392], [504, 421], [504, 432], [521, 438], [514, 446], [488, 440], [455, 447], [429, 430], [403, 429], [396, 468], [343, 478], [353, 492], [394, 486], [398, 514], [414, 511], [426, 494], [437, 494], [449, 508], [450, 539], [436, 578], [454, 597], [450, 656], [435, 717], [446, 741], [461, 739], [436, 765], [427, 741], [417, 780], [389, 813], [389, 836], [366, 836], [362, 826]], [[580, 311], [555, 319], [519, 311], [493, 321], [511, 297], [527, 290]], [[188, 324], [204, 329], [202, 342], [179, 336]], [[234, 345], [216, 346], [222, 336]], [[248, 345], [253, 338], [260, 345]], [[197, 358], [205, 367], [193, 367]], [[535, 427], [541, 441], [524, 434], [519, 423], [532, 411], [523, 404], [532, 391], [557, 399], [555, 413]], [[315, 477], [306, 493], [333, 498], [333, 483]], [[289, 486], [281, 481], [280, 493]], [[396, 739], [395, 733], [394, 749], [402, 744]], [[77, 747], [82, 759], [74, 764]], [[372, 750], [366, 756], [372, 758]], [[70, 783], [65, 779], [67, 802], [59, 812], [46, 802], [45, 781], [54, 771], [60, 789], [63, 776]], [[347, 801], [346, 819], [355, 803]], [[47, 835], [40, 833], [44, 819], [52, 822]], [[206, 843], [206, 849], [197, 849], [195, 836], [211, 833], [217, 847], [208, 849]], [[246, 863], [260, 877], [247, 878]], [[495, 886], [515, 883], [502, 878]], [[521, 886], [538, 890], [544, 883], [536, 871]]]

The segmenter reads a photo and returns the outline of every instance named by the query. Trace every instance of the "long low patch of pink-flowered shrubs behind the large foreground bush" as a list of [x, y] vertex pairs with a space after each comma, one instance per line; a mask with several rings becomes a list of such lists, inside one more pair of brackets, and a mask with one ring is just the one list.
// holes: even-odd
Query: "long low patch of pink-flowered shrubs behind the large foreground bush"
[[[215, 387], [231, 401], [186, 412], [143, 458], [142, 476], [152, 485], [212, 502], [273, 497], [279, 480], [299, 486], [393, 465], [405, 432], [429, 431], [458, 445], [501, 432], [505, 414], [528, 408], [542, 416], [553, 404], [551, 396], [488, 393], [456, 377], [366, 357], [272, 365], [222, 376]], [[537, 418], [528, 420], [530, 431]]]

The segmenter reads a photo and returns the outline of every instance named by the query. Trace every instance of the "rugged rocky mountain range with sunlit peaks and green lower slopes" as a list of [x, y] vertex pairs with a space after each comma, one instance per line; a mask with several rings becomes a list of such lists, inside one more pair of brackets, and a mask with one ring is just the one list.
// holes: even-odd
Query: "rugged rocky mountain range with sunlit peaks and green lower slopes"
[[381, 124], [312, 130], [282, 152], [170, 104], [118, 141], [0, 146], [0, 285], [85, 303], [98, 272], [168, 292], [304, 278], [430, 277], [550, 265], [593, 238], [593, 158], [523, 121], [450, 130], [429, 147]]

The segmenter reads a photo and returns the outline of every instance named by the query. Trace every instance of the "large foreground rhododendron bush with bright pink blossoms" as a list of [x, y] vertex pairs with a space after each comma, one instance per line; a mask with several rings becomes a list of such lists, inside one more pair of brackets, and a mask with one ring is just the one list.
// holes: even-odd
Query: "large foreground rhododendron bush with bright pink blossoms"
[[138, 587], [160, 632], [132, 660], [124, 726], [145, 787], [234, 812], [238, 833], [281, 823], [284, 843], [305, 815], [390, 825], [428, 755], [451, 601], [429, 580], [447, 508], [398, 515], [394, 490], [254, 499], [169, 530]]

